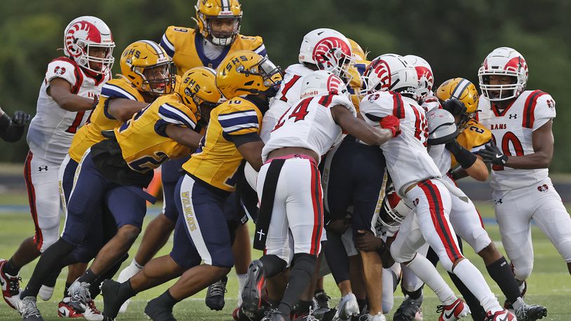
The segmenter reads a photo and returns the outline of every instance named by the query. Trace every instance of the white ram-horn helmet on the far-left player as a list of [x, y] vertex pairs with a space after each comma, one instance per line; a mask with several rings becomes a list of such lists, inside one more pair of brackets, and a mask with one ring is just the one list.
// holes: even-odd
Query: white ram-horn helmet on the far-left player
[[[113, 57], [115, 42], [111, 30], [100, 18], [90, 15], [75, 18], [65, 27], [63, 41], [65, 55], [72, 58], [79, 66], [97, 74], [105, 74], [111, 70], [115, 61]], [[103, 57], [90, 55], [90, 50], [93, 48], [105, 48], [105, 55]]]

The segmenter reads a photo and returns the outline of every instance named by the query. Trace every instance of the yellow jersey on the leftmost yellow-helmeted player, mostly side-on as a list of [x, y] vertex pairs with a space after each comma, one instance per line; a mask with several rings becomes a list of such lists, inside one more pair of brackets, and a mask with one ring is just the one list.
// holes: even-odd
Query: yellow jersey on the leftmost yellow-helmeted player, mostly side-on
[[76, 132], [72, 145], [69, 147], [69, 157], [77, 163], [89, 147], [104, 139], [101, 135], [102, 130], [112, 130], [121, 125], [121, 121], [117, 121], [107, 113], [109, 101], [114, 98], [145, 102], [139, 90], [126, 79], [118, 78], [107, 81], [101, 88], [98, 105], [91, 112], [86, 125]]

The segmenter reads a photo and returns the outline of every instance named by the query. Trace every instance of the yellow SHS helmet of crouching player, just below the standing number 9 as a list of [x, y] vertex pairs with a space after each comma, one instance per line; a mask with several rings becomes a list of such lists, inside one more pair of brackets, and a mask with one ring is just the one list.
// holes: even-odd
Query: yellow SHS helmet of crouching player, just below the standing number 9
[[216, 71], [216, 86], [227, 99], [264, 93], [276, 89], [282, 81], [280, 67], [268, 57], [239, 50], [227, 55]]

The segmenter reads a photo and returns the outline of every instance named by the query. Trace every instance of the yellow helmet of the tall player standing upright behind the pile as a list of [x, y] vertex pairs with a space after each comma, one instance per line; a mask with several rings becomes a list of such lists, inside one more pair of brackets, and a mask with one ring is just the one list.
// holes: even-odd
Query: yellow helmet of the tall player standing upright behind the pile
[[[238, 0], [198, 0], [196, 2], [196, 23], [204, 39], [218, 46], [230, 46], [240, 32], [242, 8]], [[231, 30], [213, 30], [212, 19], [231, 21]], [[230, 23], [230, 22], [229, 22]]]

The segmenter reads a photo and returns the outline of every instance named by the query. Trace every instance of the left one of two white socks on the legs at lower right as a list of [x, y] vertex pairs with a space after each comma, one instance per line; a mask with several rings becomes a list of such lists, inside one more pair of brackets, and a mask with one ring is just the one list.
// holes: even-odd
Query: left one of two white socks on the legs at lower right
[[440, 299], [445, 306], [454, 303], [454, 301], [458, 299], [426, 257], [416, 254], [415, 258], [412, 259], [409, 264], [406, 264], [406, 266], [436, 293], [438, 299]]

